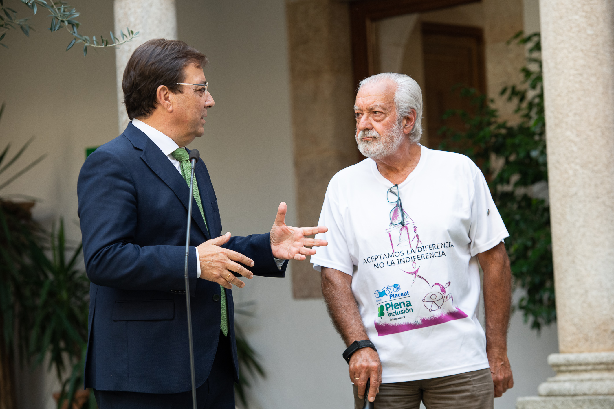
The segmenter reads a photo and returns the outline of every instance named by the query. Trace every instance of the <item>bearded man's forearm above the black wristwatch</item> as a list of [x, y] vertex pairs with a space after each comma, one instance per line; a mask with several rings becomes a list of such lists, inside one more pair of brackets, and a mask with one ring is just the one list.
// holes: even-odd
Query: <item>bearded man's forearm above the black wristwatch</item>
[[352, 294], [352, 277], [339, 270], [322, 267], [322, 294], [328, 315], [346, 345], [368, 339], [360, 319], [358, 305]]

